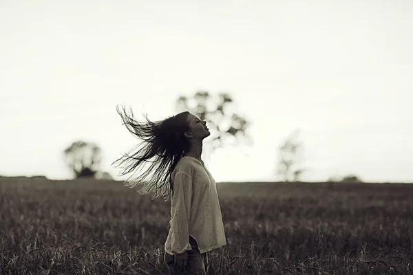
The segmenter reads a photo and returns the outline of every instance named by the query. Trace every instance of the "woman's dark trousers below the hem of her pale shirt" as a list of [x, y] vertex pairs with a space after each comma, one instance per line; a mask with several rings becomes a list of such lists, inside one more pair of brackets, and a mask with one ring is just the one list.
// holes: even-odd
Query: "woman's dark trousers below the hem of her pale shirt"
[[174, 255], [169, 255], [167, 252], [164, 254], [164, 261], [168, 266], [168, 274], [169, 275], [181, 275], [181, 274], [189, 274], [189, 275], [206, 275], [207, 268], [208, 268], [208, 255], [207, 252], [200, 253], [198, 249], [198, 245], [191, 236], [189, 236], [189, 244], [191, 244], [192, 250], [188, 251], [188, 266], [187, 270], [180, 271], [176, 268], [174, 260]]

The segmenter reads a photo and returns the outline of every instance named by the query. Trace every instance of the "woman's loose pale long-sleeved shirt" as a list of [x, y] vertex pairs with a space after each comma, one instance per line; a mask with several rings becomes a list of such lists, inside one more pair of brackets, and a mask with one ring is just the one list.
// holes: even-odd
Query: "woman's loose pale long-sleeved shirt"
[[215, 179], [195, 157], [182, 157], [171, 177], [170, 229], [165, 252], [181, 254], [191, 250], [189, 235], [200, 253], [226, 245], [224, 223]]

